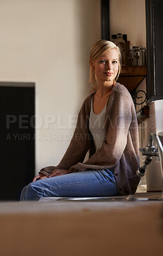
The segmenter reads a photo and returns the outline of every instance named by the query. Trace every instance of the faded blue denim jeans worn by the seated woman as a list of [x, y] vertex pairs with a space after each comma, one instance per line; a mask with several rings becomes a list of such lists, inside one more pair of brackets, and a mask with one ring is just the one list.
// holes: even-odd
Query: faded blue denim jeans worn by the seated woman
[[118, 195], [112, 170], [74, 172], [36, 180], [24, 189], [20, 200], [39, 200], [42, 196], [113, 196]]

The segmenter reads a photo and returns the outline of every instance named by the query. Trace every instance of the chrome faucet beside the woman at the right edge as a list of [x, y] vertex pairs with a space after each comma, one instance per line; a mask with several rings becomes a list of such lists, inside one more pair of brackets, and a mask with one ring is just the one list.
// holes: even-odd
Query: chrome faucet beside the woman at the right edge
[[[153, 141], [156, 145], [156, 147], [153, 145]], [[144, 164], [139, 170], [137, 170], [136, 174], [139, 177], [143, 177], [145, 174], [145, 170], [148, 164], [151, 163], [152, 157], [157, 156], [159, 157], [160, 161], [160, 168], [162, 172], [162, 196], [160, 197], [160, 200], [163, 200], [163, 147], [162, 143], [159, 139], [159, 136], [155, 133], [151, 133], [148, 140], [148, 145], [146, 145], [145, 148], [139, 148], [139, 151], [143, 156], [146, 156], [146, 159], [144, 161]], [[159, 198], [158, 198], [159, 199]]]

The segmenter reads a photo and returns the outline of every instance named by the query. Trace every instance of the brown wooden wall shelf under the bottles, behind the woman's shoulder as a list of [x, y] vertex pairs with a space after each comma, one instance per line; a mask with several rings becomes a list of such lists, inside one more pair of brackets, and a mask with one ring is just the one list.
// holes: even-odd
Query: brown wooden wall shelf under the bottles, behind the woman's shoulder
[[118, 82], [123, 84], [130, 93], [146, 77], [146, 66], [121, 66], [121, 74]]

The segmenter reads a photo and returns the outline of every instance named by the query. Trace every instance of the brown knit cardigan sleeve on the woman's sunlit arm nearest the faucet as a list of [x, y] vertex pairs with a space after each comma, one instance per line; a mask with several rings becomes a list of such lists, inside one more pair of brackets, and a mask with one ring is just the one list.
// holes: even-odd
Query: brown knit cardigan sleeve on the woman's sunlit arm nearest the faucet
[[[110, 106], [107, 108], [105, 118], [106, 140], [102, 147], [91, 156], [85, 163], [77, 163], [70, 169], [73, 170], [102, 170], [116, 166], [125, 150], [128, 139], [128, 131], [133, 125], [137, 125], [136, 115], [133, 120], [133, 102], [128, 93], [115, 92], [110, 99]], [[133, 126], [133, 127], [134, 127]], [[132, 148], [131, 148], [132, 149]], [[107, 166], [107, 167], [106, 167]]]

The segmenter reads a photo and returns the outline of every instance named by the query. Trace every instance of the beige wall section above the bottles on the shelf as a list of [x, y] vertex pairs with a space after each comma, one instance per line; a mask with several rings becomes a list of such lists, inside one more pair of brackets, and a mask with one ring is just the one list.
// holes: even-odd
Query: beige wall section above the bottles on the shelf
[[111, 35], [127, 34], [131, 47], [146, 47], [145, 0], [110, 0]]

